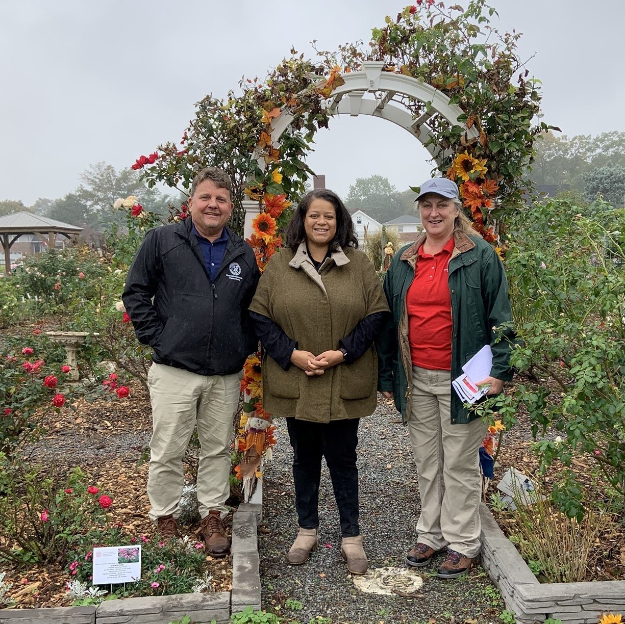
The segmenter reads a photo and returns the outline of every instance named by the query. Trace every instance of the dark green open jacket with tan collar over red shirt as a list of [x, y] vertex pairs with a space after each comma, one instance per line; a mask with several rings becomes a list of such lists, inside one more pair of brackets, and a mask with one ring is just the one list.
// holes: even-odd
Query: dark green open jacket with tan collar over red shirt
[[[417, 252], [424, 240], [425, 234], [414, 244], [402, 247], [391, 260], [384, 278], [384, 294], [392, 319], [377, 341], [377, 388], [393, 392], [395, 406], [404, 423], [410, 414], [412, 392], [406, 292], [414, 279]], [[457, 233], [454, 244], [447, 277], [452, 315], [451, 379], [461, 375], [462, 366], [484, 345], [490, 344], [491, 377], [509, 381], [512, 379], [509, 359], [514, 332], [507, 329], [498, 340], [499, 332], [495, 330], [512, 320], [504, 267], [492, 246], [479, 237]], [[451, 386], [450, 392], [451, 423], [474, 420], [476, 414], [467, 412]]]

